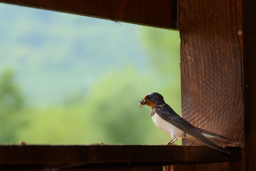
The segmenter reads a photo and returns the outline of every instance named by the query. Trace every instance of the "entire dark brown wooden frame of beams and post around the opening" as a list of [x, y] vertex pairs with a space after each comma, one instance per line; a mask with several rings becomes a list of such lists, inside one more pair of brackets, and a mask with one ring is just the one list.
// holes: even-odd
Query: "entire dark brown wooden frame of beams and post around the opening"
[[187, 139], [187, 146], [0, 146], [0, 169], [256, 170], [254, 0], [0, 2], [179, 30], [183, 118], [237, 140], [213, 140], [236, 146], [226, 147], [230, 156]]

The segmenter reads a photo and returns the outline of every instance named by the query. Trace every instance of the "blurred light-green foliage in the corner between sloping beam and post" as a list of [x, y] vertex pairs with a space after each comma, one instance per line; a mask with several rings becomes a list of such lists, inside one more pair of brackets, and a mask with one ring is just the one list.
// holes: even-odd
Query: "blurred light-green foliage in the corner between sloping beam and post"
[[162, 73], [171, 76], [172, 81], [180, 80], [179, 32], [145, 27], [142, 30], [142, 41], [142, 45], [150, 52], [148, 57], [154, 66]]

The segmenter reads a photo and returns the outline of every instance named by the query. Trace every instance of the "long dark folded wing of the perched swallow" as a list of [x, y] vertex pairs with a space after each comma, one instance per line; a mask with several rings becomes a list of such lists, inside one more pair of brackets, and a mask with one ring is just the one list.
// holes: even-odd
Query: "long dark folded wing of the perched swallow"
[[168, 121], [170, 124], [176, 126], [178, 129], [181, 129], [185, 133], [191, 135], [193, 139], [196, 141], [210, 147], [221, 151], [226, 154], [230, 154], [230, 152], [226, 151], [224, 148], [219, 147], [217, 144], [210, 141], [207, 137], [205, 137], [202, 133], [197, 130], [196, 127], [191, 125], [188, 121], [181, 118], [174, 110], [168, 105], [164, 104], [162, 107], [154, 107], [152, 108], [156, 114], [158, 114], [162, 119]]

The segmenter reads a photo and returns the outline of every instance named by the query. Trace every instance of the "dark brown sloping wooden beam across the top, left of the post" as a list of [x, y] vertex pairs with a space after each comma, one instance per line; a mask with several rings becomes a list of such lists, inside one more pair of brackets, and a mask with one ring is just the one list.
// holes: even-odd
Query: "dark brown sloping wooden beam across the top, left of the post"
[[84, 16], [178, 29], [177, 0], [0, 0]]

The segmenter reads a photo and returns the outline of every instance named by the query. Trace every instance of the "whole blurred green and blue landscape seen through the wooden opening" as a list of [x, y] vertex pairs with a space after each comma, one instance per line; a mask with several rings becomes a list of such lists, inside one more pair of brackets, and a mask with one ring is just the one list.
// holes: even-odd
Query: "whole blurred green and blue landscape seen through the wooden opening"
[[0, 3], [0, 143], [166, 144], [150, 92], [181, 114], [179, 32]]

